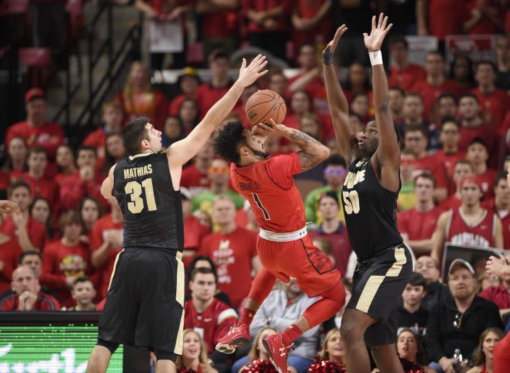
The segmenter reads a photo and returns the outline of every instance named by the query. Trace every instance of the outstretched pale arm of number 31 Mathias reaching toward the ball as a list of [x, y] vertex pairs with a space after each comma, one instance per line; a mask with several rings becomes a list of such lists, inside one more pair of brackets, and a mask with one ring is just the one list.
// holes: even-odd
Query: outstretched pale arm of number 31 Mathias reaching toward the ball
[[243, 64], [239, 70], [239, 78], [237, 78], [236, 82], [225, 96], [221, 97], [221, 99], [210, 108], [202, 122], [200, 122], [186, 138], [174, 142], [168, 147], [167, 155], [170, 167], [182, 166], [202, 149], [202, 146], [204, 146], [211, 133], [213, 133], [216, 127], [221, 125], [223, 119], [232, 112], [243, 90], [247, 86], [252, 85], [256, 79], [267, 73], [267, 70], [264, 69], [267, 64], [265, 58], [265, 55], [259, 54], [248, 66], [246, 66], [246, 60], [243, 58]]

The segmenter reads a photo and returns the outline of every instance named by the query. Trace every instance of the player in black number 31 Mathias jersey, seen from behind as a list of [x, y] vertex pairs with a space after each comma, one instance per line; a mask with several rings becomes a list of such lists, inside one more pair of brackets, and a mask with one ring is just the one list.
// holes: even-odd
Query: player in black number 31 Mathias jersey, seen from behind
[[147, 118], [122, 130], [131, 155], [110, 168], [101, 186], [105, 198], [117, 198], [124, 220], [123, 251], [117, 255], [99, 335], [88, 373], [104, 373], [119, 344], [156, 353], [156, 372], [175, 372], [182, 355], [184, 244], [179, 192], [182, 165], [204, 146], [232, 111], [244, 88], [265, 75], [267, 61], [243, 59], [239, 79], [184, 140], [161, 152], [161, 132]]

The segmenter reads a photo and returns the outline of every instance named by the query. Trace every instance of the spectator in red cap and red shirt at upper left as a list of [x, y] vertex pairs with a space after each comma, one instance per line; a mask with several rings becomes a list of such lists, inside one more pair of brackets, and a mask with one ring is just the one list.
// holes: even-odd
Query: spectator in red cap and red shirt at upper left
[[25, 109], [27, 119], [15, 123], [7, 129], [5, 144], [16, 136], [23, 138], [29, 147], [42, 146], [51, 162], [55, 160], [55, 154], [60, 144], [64, 143], [64, 133], [60, 125], [46, 122], [45, 93], [40, 88], [32, 88], [25, 94]]

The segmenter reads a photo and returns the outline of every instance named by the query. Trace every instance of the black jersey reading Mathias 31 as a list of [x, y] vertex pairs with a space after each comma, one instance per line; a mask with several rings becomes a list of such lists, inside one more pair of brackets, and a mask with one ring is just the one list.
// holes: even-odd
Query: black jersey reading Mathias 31
[[115, 166], [113, 175], [112, 194], [124, 218], [123, 246], [182, 251], [181, 197], [173, 190], [167, 155], [132, 155]]

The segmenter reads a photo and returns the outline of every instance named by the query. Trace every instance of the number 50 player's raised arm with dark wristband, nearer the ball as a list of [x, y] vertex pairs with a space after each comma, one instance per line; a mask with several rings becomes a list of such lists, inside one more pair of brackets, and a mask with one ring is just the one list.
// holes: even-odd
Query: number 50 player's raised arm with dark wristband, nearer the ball
[[340, 154], [349, 166], [354, 157], [354, 129], [349, 125], [349, 103], [345, 98], [345, 94], [343, 94], [335, 67], [333, 66], [333, 54], [337, 48], [338, 40], [345, 31], [347, 31], [345, 25], [341, 25], [337, 29], [335, 38], [328, 43], [322, 52], [322, 64], [324, 65], [324, 82], [326, 83], [326, 93], [328, 94], [328, 104], [333, 129], [335, 129], [335, 138]]

